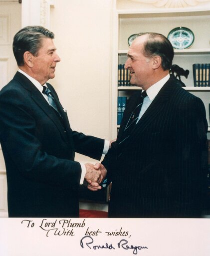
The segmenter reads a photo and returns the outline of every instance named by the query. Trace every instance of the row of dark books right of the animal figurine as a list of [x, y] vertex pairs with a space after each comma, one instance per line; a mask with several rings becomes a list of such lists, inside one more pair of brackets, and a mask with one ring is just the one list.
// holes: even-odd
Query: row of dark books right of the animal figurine
[[193, 64], [193, 79], [195, 87], [210, 86], [210, 63]]

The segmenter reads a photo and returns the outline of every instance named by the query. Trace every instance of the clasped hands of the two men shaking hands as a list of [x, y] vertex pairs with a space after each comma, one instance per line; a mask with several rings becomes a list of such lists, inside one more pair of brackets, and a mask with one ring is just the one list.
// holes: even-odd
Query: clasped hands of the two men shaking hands
[[106, 177], [106, 174], [107, 174], [106, 168], [103, 166], [103, 164], [100, 164], [100, 163], [96, 163], [95, 165], [86, 163], [85, 167], [86, 167], [85, 179], [88, 183], [87, 185], [88, 189], [92, 191], [101, 189], [101, 186], [99, 184]]

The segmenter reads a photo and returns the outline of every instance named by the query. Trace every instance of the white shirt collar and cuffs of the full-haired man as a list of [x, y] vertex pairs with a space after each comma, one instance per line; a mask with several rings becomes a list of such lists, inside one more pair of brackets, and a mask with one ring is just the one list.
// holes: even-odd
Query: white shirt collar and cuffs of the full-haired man
[[[49, 101], [48, 101], [48, 97], [47, 95], [43, 94], [42, 93], [42, 90], [43, 90], [43, 86], [46, 86], [46, 84], [43, 84], [43, 86], [37, 81], [35, 80], [34, 78], [30, 77], [28, 74], [26, 74], [24, 71], [22, 70], [18, 70], [18, 72], [20, 72], [21, 74], [23, 74], [25, 77], [27, 77], [31, 83], [39, 90], [39, 92], [42, 94], [42, 96], [44, 97], [44, 99], [48, 102], [49, 104]], [[65, 109], [63, 109], [63, 111], [65, 111]], [[108, 140], [104, 140], [104, 149], [103, 149], [103, 154], [106, 154], [109, 150], [109, 144], [110, 142]], [[82, 169], [82, 173], [81, 173], [81, 177], [80, 177], [80, 184], [83, 184], [84, 182], [84, 177], [85, 177], [85, 174], [86, 174], [86, 167], [85, 167], [85, 164], [82, 163], [82, 162], [79, 162], [80, 165], [81, 165], [81, 169]]]

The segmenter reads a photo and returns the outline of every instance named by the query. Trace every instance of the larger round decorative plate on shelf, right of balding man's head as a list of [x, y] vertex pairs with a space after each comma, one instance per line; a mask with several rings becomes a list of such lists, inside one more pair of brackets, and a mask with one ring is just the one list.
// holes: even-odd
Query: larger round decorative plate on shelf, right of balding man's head
[[178, 27], [169, 32], [168, 39], [175, 49], [186, 49], [192, 46], [195, 36], [185, 27]]

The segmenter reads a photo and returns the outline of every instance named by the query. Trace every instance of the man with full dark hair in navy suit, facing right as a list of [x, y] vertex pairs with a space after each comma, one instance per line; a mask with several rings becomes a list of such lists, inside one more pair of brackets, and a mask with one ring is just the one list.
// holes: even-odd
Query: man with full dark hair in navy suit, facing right
[[39, 26], [20, 30], [13, 40], [19, 70], [0, 91], [9, 217], [78, 217], [79, 184], [84, 178], [96, 184], [102, 179], [100, 170], [74, 161], [74, 155], [100, 160], [107, 141], [72, 131], [46, 83], [60, 61], [53, 38]]

